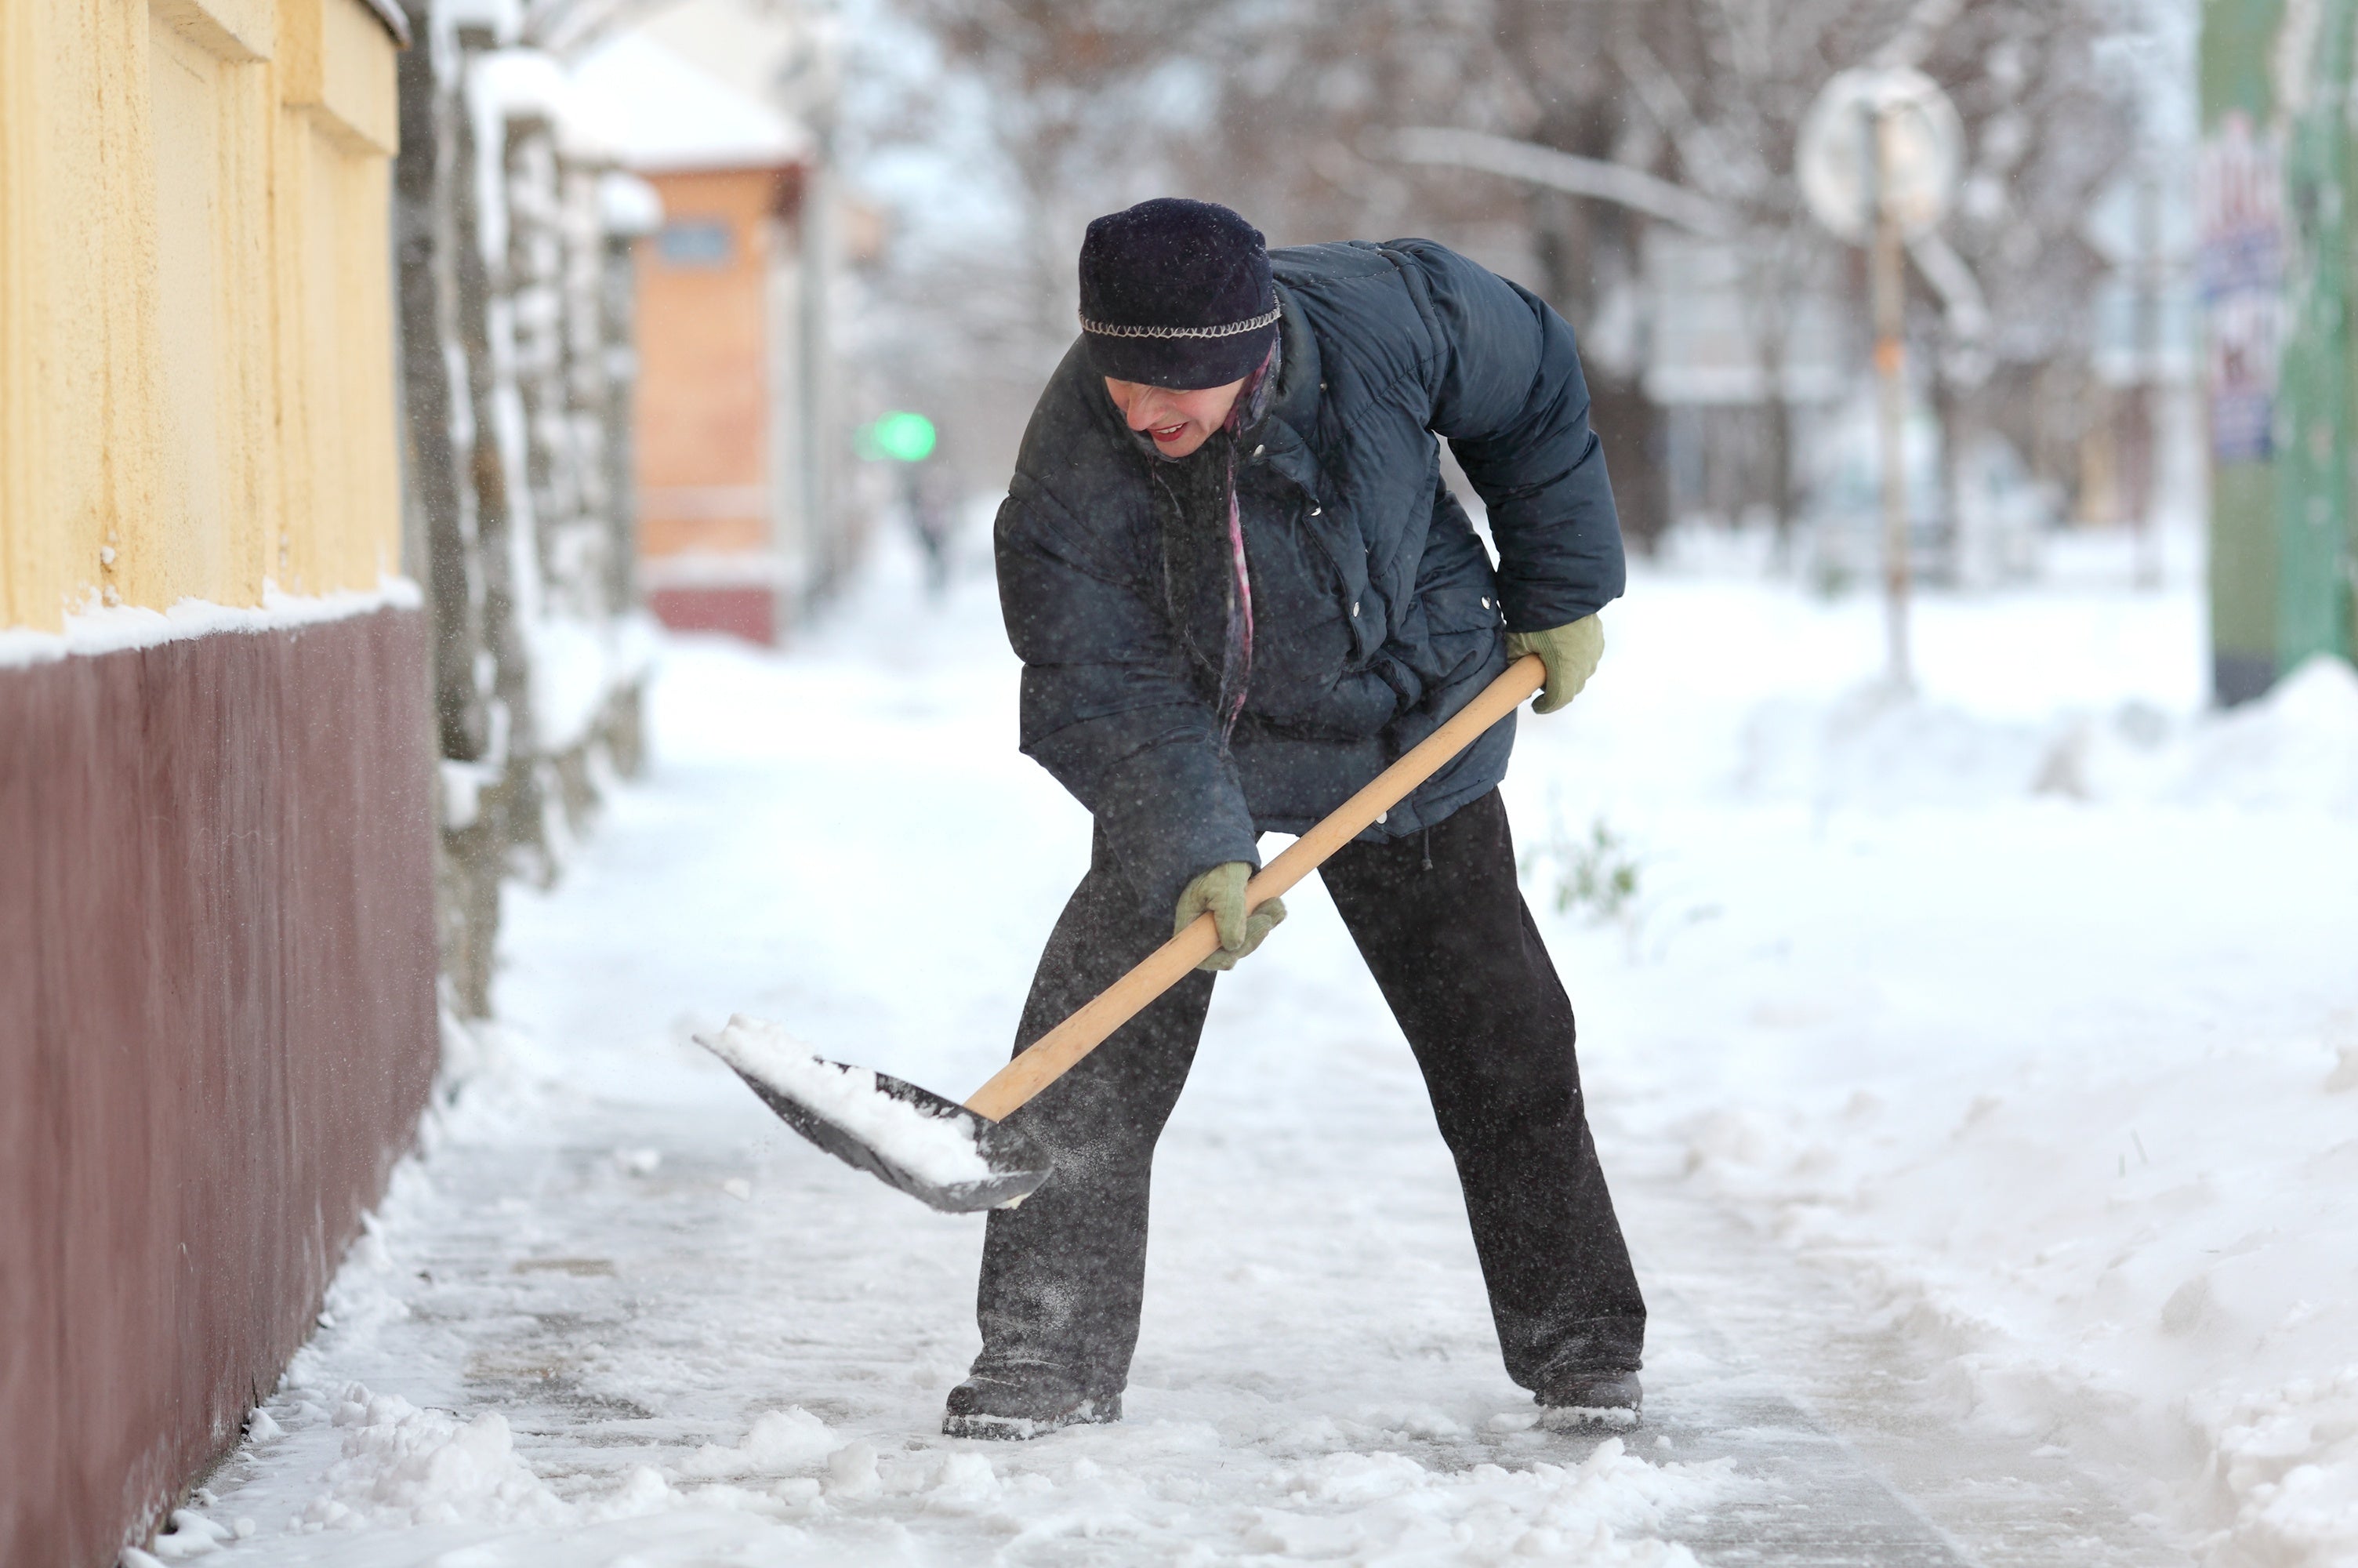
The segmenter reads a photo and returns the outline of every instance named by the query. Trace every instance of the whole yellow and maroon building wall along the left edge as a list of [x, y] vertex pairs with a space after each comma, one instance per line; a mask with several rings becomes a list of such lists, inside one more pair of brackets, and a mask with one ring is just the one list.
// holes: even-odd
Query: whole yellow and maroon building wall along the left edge
[[116, 1563], [436, 1063], [375, 0], [0, 0], [0, 1561]]

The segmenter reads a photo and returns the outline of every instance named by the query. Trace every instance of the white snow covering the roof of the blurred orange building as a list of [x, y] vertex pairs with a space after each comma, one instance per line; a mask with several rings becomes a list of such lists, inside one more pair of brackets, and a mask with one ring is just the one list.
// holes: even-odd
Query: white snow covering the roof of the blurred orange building
[[797, 163], [811, 137], [641, 33], [620, 33], [573, 68], [587, 134], [634, 170], [729, 170]]

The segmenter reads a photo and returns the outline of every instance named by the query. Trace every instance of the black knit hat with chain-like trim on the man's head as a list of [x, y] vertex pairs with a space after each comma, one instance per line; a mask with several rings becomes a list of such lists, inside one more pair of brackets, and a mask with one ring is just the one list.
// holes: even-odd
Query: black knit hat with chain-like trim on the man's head
[[1118, 382], [1188, 391], [1252, 375], [1278, 340], [1262, 231], [1229, 207], [1158, 196], [1089, 224], [1080, 330]]

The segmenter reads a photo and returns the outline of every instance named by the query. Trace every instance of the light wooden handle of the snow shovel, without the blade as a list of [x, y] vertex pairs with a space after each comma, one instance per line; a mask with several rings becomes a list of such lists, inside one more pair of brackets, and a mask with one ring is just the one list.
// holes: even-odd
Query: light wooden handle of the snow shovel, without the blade
[[[1441, 764], [1469, 747], [1476, 736], [1521, 707], [1523, 698], [1535, 693], [1544, 681], [1547, 665], [1540, 663], [1537, 653], [1526, 653], [1507, 665], [1504, 674], [1483, 686], [1448, 724], [1420, 740], [1405, 757], [1377, 773], [1365, 790], [1335, 806], [1325, 821], [1264, 865], [1245, 884], [1245, 908], [1257, 910], [1318, 870], [1330, 854], [1408, 799], [1410, 790], [1438, 773]], [[1063, 1078], [1075, 1061], [1104, 1045], [1106, 1035], [1139, 1016], [1148, 1002], [1186, 979], [1196, 964], [1212, 957], [1214, 948], [1219, 948], [1219, 931], [1210, 915], [1198, 915], [1184, 931], [1148, 953], [1137, 969], [1106, 986], [1094, 1002], [1033, 1040], [1030, 1049], [974, 1092], [967, 1111], [1002, 1120], [1033, 1094]]]

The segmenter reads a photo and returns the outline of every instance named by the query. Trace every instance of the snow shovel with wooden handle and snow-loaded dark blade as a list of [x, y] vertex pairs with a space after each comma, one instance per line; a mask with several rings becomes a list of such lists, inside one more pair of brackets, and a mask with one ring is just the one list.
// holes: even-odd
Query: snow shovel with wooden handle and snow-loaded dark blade
[[[1448, 724], [1285, 846], [1245, 884], [1254, 910], [1318, 870], [1330, 854], [1365, 832], [1410, 790], [1441, 771], [1476, 736], [1514, 712], [1547, 681], [1547, 665], [1526, 653], [1490, 681]], [[1198, 917], [1113, 981], [1094, 1002], [1040, 1035], [1000, 1068], [964, 1106], [913, 1082], [814, 1056], [776, 1023], [736, 1016], [729, 1028], [696, 1042], [736, 1068], [771, 1111], [828, 1153], [856, 1165], [936, 1210], [964, 1214], [1021, 1203], [1049, 1179], [1049, 1158], [1005, 1120], [1106, 1035], [1129, 1023], [1148, 1002], [1177, 986], [1219, 948], [1210, 915]]]

